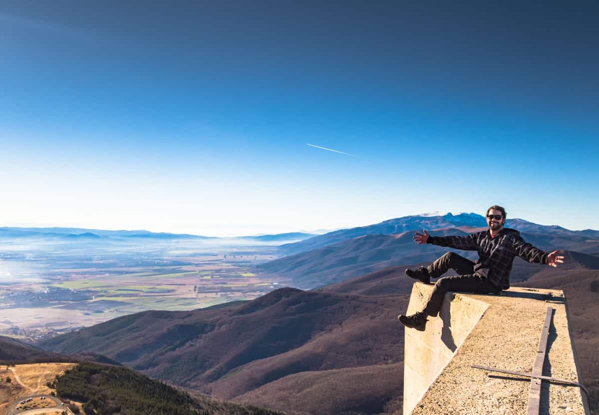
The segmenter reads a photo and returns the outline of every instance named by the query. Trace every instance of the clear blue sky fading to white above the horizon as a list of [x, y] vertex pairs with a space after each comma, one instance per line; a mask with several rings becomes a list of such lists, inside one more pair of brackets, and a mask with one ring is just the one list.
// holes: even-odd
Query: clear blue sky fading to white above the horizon
[[0, 5], [0, 225], [599, 229], [592, 2], [120, 3]]

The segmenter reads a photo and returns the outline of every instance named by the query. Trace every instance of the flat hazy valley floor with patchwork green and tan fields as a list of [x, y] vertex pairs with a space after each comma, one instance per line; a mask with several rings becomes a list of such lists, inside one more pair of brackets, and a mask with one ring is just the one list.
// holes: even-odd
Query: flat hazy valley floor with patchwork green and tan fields
[[0, 241], [0, 335], [36, 340], [139, 311], [249, 300], [286, 283], [254, 268], [277, 258], [273, 246], [137, 244]]

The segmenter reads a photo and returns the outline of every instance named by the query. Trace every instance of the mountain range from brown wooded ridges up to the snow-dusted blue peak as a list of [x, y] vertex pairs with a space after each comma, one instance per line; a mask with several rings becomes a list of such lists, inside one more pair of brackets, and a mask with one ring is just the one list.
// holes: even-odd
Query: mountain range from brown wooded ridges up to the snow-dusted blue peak
[[[144, 311], [38, 346], [61, 354], [102, 353], [159, 380], [290, 415], [399, 414], [404, 329], [396, 317], [406, 310], [413, 283], [403, 270], [447, 250], [418, 246], [413, 231], [465, 235], [485, 229], [480, 219], [475, 214], [407, 217], [373, 225], [377, 231], [366, 226], [312, 237], [294, 244], [294, 255], [261, 265], [263, 272], [288, 275], [295, 288], [193, 311]], [[599, 232], [516, 219], [510, 225], [541, 249], [565, 249], [566, 262], [558, 268], [516, 259], [512, 281], [564, 290], [595, 414]]]

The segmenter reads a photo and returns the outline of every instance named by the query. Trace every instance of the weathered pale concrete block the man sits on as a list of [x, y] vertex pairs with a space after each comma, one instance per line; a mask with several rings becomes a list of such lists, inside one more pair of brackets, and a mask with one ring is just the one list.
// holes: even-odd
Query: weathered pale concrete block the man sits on
[[[415, 284], [409, 313], [418, 311], [431, 289], [432, 285]], [[406, 329], [404, 414], [526, 414], [530, 378], [470, 365], [532, 372], [547, 307], [555, 312], [543, 375], [578, 381], [561, 291], [447, 293], [439, 317], [429, 317], [426, 331]], [[588, 413], [578, 387], [543, 381], [540, 414]]]

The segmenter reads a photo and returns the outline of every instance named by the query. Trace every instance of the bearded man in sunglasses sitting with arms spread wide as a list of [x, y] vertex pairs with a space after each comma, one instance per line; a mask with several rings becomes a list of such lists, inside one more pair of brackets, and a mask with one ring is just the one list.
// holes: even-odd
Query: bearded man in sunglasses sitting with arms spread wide
[[443, 296], [447, 291], [466, 291], [476, 293], [499, 293], [510, 287], [510, 271], [512, 262], [517, 255], [528, 262], [544, 263], [558, 266], [564, 263], [564, 257], [558, 256], [557, 251], [545, 253], [526, 243], [515, 229], [504, 228], [506, 210], [501, 206], [491, 206], [486, 213], [488, 231], [477, 232], [465, 237], [431, 237], [416, 232], [414, 240], [418, 244], [434, 244], [455, 249], [476, 250], [479, 259], [472, 262], [453, 252], [447, 252], [428, 267], [406, 269], [406, 274], [430, 283], [431, 278], [438, 278], [448, 269], [454, 269], [458, 275], [437, 280], [431, 296], [422, 311], [397, 318], [407, 327], [424, 330], [427, 316], [436, 316], [441, 309]]

